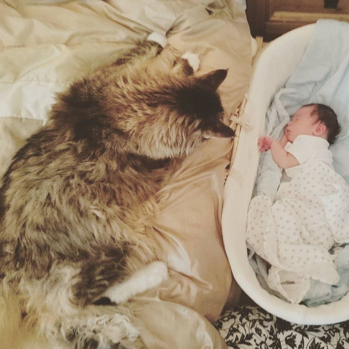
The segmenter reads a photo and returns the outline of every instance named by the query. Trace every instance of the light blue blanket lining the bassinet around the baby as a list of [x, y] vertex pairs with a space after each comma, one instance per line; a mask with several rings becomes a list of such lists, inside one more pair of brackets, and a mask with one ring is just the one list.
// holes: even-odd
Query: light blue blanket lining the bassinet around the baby
[[[328, 105], [337, 114], [342, 131], [330, 150], [335, 170], [349, 183], [349, 23], [334, 20], [319, 20], [316, 23], [302, 61], [270, 105], [266, 116], [266, 134], [280, 139], [290, 117], [299, 107], [309, 103]], [[274, 200], [281, 174], [270, 150], [263, 153], [254, 195], [269, 195]], [[341, 260], [348, 262], [349, 248], [340, 255]], [[339, 264], [337, 262], [336, 265]], [[263, 275], [263, 268], [258, 263], [254, 264], [257, 274]], [[348, 291], [349, 262], [340, 265], [337, 271], [341, 280], [337, 288], [313, 282], [306, 296], [307, 305], [331, 302]]]

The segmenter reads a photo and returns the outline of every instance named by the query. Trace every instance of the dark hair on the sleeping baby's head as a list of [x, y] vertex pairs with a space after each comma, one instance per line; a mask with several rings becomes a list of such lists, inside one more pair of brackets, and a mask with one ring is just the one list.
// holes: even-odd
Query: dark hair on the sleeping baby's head
[[341, 126], [338, 123], [337, 115], [333, 109], [327, 105], [317, 103], [304, 106], [314, 106], [312, 115], [317, 117], [317, 121], [321, 121], [325, 124], [328, 132], [327, 142], [333, 144], [341, 131]]

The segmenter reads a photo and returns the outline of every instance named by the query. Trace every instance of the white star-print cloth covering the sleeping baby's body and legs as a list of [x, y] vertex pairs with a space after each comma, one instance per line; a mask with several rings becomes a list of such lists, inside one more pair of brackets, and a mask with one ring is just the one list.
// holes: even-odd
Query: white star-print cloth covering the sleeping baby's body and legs
[[268, 286], [300, 303], [310, 279], [336, 284], [328, 250], [349, 242], [349, 187], [331, 165], [310, 162], [282, 187], [279, 200], [257, 195], [250, 203], [246, 241], [270, 263]]

